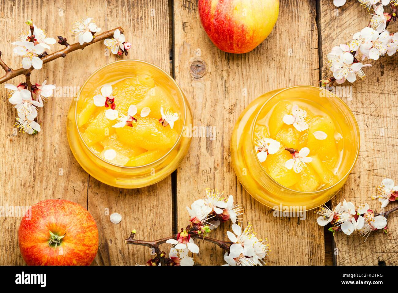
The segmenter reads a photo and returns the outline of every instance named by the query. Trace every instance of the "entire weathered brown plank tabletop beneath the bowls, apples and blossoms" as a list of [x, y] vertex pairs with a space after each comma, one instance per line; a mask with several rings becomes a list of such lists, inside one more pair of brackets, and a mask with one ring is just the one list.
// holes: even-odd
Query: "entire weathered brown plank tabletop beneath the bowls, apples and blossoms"
[[[352, 1], [351, 1], [352, 2]], [[215, 126], [216, 138], [193, 138], [188, 155], [174, 174], [151, 187], [126, 190], [109, 187], [90, 177], [74, 159], [66, 139], [66, 112], [73, 93], [98, 67], [115, 61], [103, 43], [90, 45], [65, 59], [34, 71], [33, 81], [55, 84], [55, 96], [39, 112], [39, 135], [14, 135], [16, 112], [1, 86], [1, 206], [29, 206], [43, 199], [62, 198], [86, 207], [100, 233], [100, 247], [93, 264], [144, 264], [150, 250], [123, 243], [135, 228], [137, 238], [154, 240], [187, 225], [185, 206], [203, 196], [205, 187], [234, 195], [251, 222], [271, 247], [270, 265], [397, 265], [398, 216], [389, 217], [390, 233], [373, 233], [366, 242], [342, 233], [332, 238], [318, 226], [316, 215], [306, 220], [275, 218], [272, 210], [256, 202], [237, 182], [230, 160], [232, 128], [245, 106], [260, 94], [292, 85], [318, 85], [329, 76], [324, 57], [334, 45], [349, 40], [367, 25], [369, 16], [358, 3], [335, 8], [332, 0], [281, 0], [277, 24], [254, 51], [233, 55], [217, 49], [201, 27], [194, 0], [5, 1], [0, 8], [3, 60], [12, 68], [21, 58], [12, 56], [12, 41], [27, 30], [32, 18], [48, 35], [62, 35], [72, 42], [72, 22], [93, 17], [103, 31], [122, 26], [133, 44], [128, 58], [142, 59], [169, 70], [185, 92], [195, 126]], [[396, 24], [392, 24], [392, 31]], [[60, 49], [53, 45], [53, 51]], [[385, 177], [398, 181], [398, 124], [396, 64], [398, 58], [382, 57], [367, 69], [368, 77], [353, 84], [353, 98], [346, 100], [361, 130], [361, 153], [334, 204], [347, 200], [371, 200], [375, 186]], [[195, 67], [197, 65], [200, 67]], [[23, 81], [18, 77], [12, 81]], [[351, 84], [347, 84], [350, 86]], [[247, 94], [246, 94], [247, 93]], [[390, 206], [396, 203], [390, 204]], [[123, 220], [112, 224], [109, 214]], [[21, 265], [18, 225], [21, 217], [0, 217], [0, 264]], [[222, 226], [213, 237], [222, 239]], [[199, 243], [197, 264], [223, 264], [220, 248]], [[169, 245], [163, 246], [168, 250]]]

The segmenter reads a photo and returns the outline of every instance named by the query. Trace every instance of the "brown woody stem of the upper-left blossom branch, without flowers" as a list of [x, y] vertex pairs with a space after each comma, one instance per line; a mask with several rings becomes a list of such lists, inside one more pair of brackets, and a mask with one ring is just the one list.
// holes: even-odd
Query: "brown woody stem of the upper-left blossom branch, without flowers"
[[[43, 55], [43, 57], [41, 57], [40, 59], [41, 59], [41, 61], [43, 61], [43, 64], [44, 64], [44, 63], [48, 63], [48, 62], [54, 61], [55, 59], [58, 59], [59, 57], [65, 58], [67, 54], [69, 54], [69, 53], [71, 53], [73, 51], [76, 51], [78, 49], [83, 50], [88, 45], [97, 43], [97, 42], [102, 41], [102, 40], [107, 39], [107, 38], [111, 38], [113, 36], [113, 33], [115, 32], [115, 30], [117, 30], [117, 29], [119, 29], [119, 31], [121, 33], [123, 33], [123, 28], [121, 28], [121, 27], [114, 28], [114, 29], [111, 29], [109, 31], [105, 31], [103, 33], [100, 33], [99, 35], [94, 37], [94, 39], [92, 41], [90, 41], [89, 43], [84, 43], [83, 45], [80, 45], [80, 43], [74, 43], [72, 45], [69, 45], [69, 44], [66, 43], [66, 39], [61, 37], [62, 40], [64, 39], [64, 43], [66, 44], [65, 48], [61, 49], [61, 50], [59, 50], [57, 52], [48, 54], [48, 55]], [[64, 45], [64, 44], [62, 43], [62, 45]], [[1, 57], [1, 53], [0, 53], [0, 57]], [[9, 81], [10, 79], [13, 79], [14, 77], [17, 77], [19, 75], [25, 75], [26, 76], [26, 74], [28, 74], [28, 73], [30, 74], [33, 71], [33, 69], [34, 69], [33, 67], [31, 67], [29, 69], [19, 68], [19, 69], [13, 70], [13, 69], [10, 69], [1, 60], [1, 58], [0, 58], [0, 65], [4, 69], [4, 71], [6, 71], [6, 74], [4, 76], [0, 77], [0, 84], [4, 83], [6, 81]]]

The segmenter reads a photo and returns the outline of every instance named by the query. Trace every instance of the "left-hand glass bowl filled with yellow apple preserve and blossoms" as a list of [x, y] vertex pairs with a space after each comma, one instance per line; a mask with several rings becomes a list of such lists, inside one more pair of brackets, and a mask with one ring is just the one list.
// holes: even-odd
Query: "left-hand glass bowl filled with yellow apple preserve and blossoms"
[[191, 138], [180, 88], [162, 69], [137, 60], [94, 72], [68, 113], [68, 140], [80, 165], [103, 183], [138, 188], [174, 171]]

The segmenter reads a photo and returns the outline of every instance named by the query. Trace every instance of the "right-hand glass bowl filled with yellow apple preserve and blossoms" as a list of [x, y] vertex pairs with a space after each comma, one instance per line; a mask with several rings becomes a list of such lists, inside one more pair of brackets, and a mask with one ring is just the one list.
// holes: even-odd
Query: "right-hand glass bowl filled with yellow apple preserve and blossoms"
[[359, 140], [357, 122], [340, 98], [318, 87], [290, 87], [260, 96], [240, 115], [232, 163], [259, 202], [277, 210], [310, 210], [341, 189]]

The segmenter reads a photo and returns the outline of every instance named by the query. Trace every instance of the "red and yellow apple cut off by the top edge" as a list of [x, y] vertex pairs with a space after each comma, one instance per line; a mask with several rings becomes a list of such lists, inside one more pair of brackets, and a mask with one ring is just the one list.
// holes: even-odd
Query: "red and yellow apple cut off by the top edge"
[[220, 50], [247, 53], [271, 33], [279, 0], [199, 0], [198, 8], [203, 28]]

